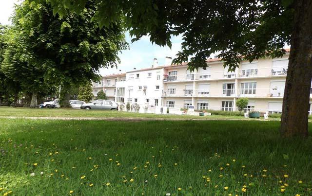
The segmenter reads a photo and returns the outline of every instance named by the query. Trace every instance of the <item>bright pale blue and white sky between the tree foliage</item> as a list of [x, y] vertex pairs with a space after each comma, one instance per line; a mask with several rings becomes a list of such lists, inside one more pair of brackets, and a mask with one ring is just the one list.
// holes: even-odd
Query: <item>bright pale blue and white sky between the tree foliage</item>
[[[11, 24], [9, 17], [14, 10], [14, 3], [18, 3], [20, 0], [0, 0], [0, 23], [3, 25]], [[165, 57], [170, 56], [172, 58], [181, 49], [182, 37], [172, 37], [172, 47], [160, 47], [153, 45], [149, 37], [144, 36], [140, 40], [131, 43], [131, 37], [129, 33], [126, 33], [126, 41], [130, 45], [130, 50], [124, 50], [119, 54], [121, 63], [117, 68], [101, 69], [101, 75], [108, 75], [112, 73], [118, 73], [131, 71], [133, 68], [141, 69], [151, 67], [154, 58], [157, 58], [158, 65], [164, 65]]]

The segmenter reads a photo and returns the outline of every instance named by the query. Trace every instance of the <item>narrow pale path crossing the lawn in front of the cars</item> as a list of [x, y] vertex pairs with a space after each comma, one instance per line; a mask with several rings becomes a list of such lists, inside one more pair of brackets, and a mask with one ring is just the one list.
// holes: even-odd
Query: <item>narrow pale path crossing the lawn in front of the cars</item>
[[98, 121], [268, 121], [264, 119], [230, 119], [230, 118], [209, 118], [209, 119], [187, 119], [187, 118], [143, 118], [143, 117], [32, 117], [32, 116], [0, 116], [0, 119], [32, 119], [32, 120], [98, 120]]

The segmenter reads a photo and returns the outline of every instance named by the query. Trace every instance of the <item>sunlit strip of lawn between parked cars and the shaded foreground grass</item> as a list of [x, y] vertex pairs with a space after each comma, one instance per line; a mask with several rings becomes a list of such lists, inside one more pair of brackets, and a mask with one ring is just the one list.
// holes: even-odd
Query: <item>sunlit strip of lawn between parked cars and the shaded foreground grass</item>
[[[49, 109], [49, 108], [24, 108], [24, 107], [0, 107], [0, 116], [31, 116], [31, 117], [139, 117], [139, 118], [165, 118], [165, 119], [241, 119], [243, 116], [190, 116], [190, 115], [159, 115], [124, 111], [85, 110], [85, 109]], [[263, 118], [262, 118], [263, 119]], [[271, 120], [278, 120], [270, 118]]]

